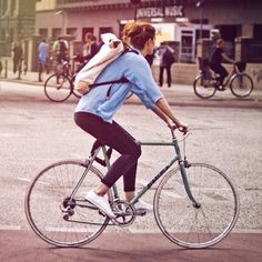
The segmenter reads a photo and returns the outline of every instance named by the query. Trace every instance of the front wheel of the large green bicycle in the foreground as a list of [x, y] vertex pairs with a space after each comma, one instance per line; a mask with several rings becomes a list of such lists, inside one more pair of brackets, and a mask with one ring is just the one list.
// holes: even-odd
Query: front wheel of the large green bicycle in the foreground
[[183, 248], [209, 248], [223, 240], [239, 215], [239, 198], [219, 169], [193, 163], [187, 170], [195, 206], [184, 188], [180, 168], [161, 180], [154, 195], [154, 216], [162, 233]]

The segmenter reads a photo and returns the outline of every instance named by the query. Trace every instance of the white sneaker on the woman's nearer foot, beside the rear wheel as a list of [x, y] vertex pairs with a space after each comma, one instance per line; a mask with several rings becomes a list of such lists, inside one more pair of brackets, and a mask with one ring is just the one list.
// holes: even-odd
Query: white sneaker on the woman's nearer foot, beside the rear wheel
[[94, 193], [93, 190], [90, 190], [84, 199], [88, 200], [93, 205], [95, 205], [103, 213], [105, 213], [110, 219], [115, 219], [115, 215], [111, 210], [105, 195], [104, 196], [98, 195], [97, 193]]

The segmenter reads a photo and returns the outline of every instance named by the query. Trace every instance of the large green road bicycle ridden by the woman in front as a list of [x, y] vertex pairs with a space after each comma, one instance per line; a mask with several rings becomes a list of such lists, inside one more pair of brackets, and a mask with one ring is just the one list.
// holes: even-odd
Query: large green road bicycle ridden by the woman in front
[[[171, 137], [171, 142], [139, 142], [173, 147], [175, 153], [131, 203], [120, 199], [115, 184], [109, 190], [108, 199], [115, 219], [110, 220], [84, 200], [87, 191], [95, 188], [103, 177], [94, 161], [109, 169], [111, 149], [94, 145], [85, 161], [66, 160], [43, 169], [29, 187], [24, 201], [32, 230], [52, 245], [84, 245], [107, 226], [125, 228], [137, 216], [144, 215], [135, 211], [134, 203], [162, 178], [153, 200], [154, 218], [162, 233], [171, 242], [190, 249], [209, 248], [222, 241], [239, 216], [238, 192], [218, 168], [190, 163], [185, 154], [181, 155], [173, 130]], [[185, 150], [185, 141], [183, 144]], [[103, 159], [99, 158], [99, 152]], [[178, 167], [170, 169], [174, 163]]]

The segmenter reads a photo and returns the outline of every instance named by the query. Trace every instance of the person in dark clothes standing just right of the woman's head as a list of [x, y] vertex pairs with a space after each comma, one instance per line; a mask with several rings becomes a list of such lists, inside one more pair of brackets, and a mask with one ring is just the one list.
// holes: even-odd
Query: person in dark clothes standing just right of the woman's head
[[158, 54], [160, 57], [159, 85], [160, 87], [163, 85], [163, 73], [165, 70], [168, 87], [171, 88], [172, 83], [171, 66], [174, 62], [174, 50], [164, 42], [162, 42], [158, 48]]

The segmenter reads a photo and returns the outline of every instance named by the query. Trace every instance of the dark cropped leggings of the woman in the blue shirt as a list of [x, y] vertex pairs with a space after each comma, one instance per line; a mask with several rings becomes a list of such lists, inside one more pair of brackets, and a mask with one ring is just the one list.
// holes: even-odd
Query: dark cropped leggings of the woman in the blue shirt
[[92, 113], [77, 112], [74, 113], [74, 121], [99, 142], [107, 144], [121, 154], [101, 182], [111, 188], [123, 175], [124, 191], [134, 191], [138, 159], [141, 155], [141, 147], [135, 139], [115, 121], [109, 123]]

